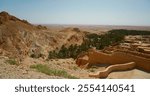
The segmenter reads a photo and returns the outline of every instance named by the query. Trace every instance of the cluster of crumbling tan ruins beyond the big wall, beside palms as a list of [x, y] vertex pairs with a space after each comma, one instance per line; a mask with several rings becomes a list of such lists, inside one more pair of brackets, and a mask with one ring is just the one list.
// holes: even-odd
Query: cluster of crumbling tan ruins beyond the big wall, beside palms
[[145, 54], [150, 54], [150, 36], [135, 35], [125, 36], [125, 42], [120, 44], [121, 49], [138, 51]]

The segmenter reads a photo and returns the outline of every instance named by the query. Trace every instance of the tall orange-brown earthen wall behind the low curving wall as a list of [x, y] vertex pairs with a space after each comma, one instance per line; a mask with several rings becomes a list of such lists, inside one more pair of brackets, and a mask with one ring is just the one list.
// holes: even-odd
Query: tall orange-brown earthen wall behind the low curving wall
[[[92, 66], [93, 64], [124, 64], [129, 62], [135, 62], [136, 68], [150, 72], [150, 59], [132, 55], [129, 53], [124, 52], [114, 52], [113, 54], [106, 54], [97, 50], [89, 50], [88, 59], [84, 59], [86, 62], [82, 62], [82, 57], [77, 58], [77, 65], [84, 66], [88, 64], [89, 66]], [[80, 63], [80, 64], [79, 64]]]

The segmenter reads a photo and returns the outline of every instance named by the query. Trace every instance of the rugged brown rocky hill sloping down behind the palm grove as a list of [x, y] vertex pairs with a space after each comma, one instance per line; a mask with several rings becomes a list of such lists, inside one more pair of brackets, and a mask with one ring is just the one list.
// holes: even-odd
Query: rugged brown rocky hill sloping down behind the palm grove
[[84, 32], [78, 28], [51, 31], [45, 26], [35, 26], [7, 12], [0, 13], [0, 55], [24, 58], [34, 55], [46, 58], [50, 50], [62, 45], [81, 44]]

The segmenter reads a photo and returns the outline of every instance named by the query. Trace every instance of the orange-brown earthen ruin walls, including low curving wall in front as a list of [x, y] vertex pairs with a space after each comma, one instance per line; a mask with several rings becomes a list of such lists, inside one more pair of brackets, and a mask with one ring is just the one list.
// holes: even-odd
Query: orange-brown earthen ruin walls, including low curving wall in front
[[109, 66], [96, 74], [89, 74], [91, 77], [106, 78], [112, 71], [125, 71], [134, 68], [150, 72], [150, 56], [138, 52], [116, 50], [107, 54], [96, 49], [90, 49], [78, 56], [76, 64], [81, 68], [88, 68], [94, 64], [109, 64]]

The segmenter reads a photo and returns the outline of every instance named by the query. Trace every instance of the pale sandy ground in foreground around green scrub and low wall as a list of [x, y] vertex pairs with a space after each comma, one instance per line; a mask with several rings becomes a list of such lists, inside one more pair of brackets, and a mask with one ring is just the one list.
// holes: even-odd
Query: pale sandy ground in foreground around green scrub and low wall
[[[90, 69], [81, 69], [75, 64], [74, 59], [33, 59], [26, 58], [18, 65], [10, 65], [6, 63], [8, 58], [0, 58], [0, 78], [1, 79], [62, 79], [64, 77], [49, 76], [44, 73], [31, 69], [31, 65], [45, 64], [52, 69], [65, 70], [68, 74], [80, 79], [95, 79], [88, 76], [90, 72], [104, 70], [105, 67], [93, 67]], [[129, 71], [112, 72], [108, 79], [150, 79], [150, 74], [138, 69]]]

